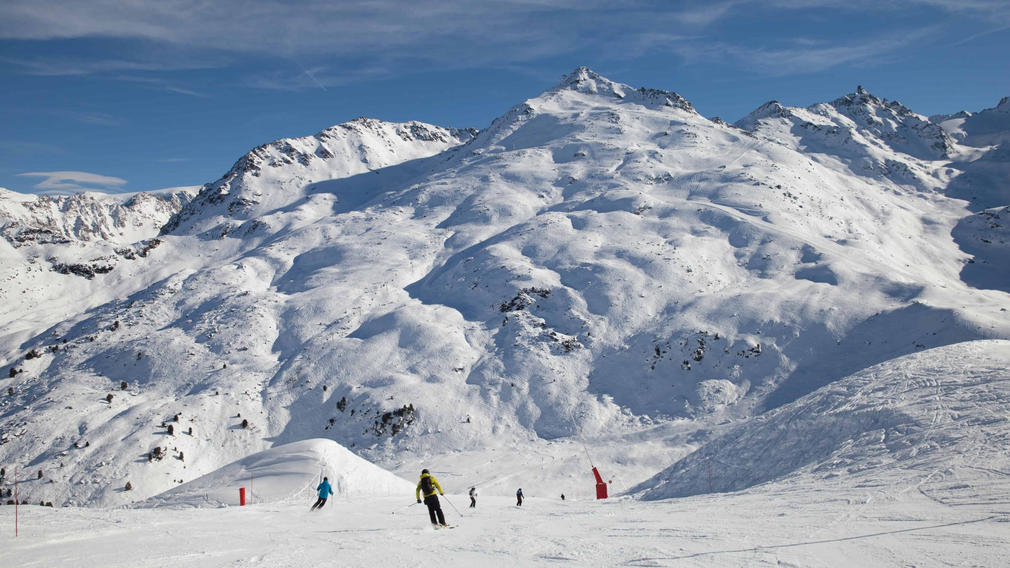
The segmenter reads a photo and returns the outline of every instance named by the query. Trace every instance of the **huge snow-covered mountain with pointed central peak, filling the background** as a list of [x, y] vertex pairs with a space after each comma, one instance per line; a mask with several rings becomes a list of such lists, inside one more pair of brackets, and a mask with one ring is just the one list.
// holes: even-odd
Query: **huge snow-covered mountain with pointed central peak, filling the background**
[[873, 365], [1010, 339], [1006, 265], [966, 276], [996, 253], [955, 230], [1010, 204], [956, 183], [1000, 148], [957, 140], [863, 89], [731, 125], [580, 68], [480, 132], [261, 147], [128, 270], [43, 274], [101, 302], [5, 332], [0, 463], [111, 504], [324, 437], [535, 494], [591, 486], [578, 433], [640, 482]]

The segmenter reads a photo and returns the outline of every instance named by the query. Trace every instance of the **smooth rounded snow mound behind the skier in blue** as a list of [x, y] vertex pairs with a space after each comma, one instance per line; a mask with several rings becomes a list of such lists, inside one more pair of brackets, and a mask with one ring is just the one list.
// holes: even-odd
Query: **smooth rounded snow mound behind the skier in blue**
[[314, 439], [258, 452], [170, 489], [137, 506], [238, 504], [238, 488], [250, 502], [308, 499], [323, 477], [333, 497], [410, 496], [414, 485], [371, 464], [332, 440]]

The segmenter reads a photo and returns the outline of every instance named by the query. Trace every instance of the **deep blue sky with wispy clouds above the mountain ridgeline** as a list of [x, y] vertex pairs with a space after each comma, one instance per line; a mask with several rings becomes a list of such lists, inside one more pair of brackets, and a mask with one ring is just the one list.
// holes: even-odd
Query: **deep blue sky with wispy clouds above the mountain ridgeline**
[[1010, 0], [5, 0], [0, 187], [201, 185], [358, 116], [484, 127], [585, 65], [735, 120], [1010, 95]]

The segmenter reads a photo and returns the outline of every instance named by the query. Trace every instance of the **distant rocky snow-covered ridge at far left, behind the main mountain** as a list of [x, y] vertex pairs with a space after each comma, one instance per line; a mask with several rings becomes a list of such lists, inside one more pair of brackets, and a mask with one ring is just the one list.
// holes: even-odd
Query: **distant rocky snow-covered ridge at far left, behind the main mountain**
[[0, 188], [0, 351], [117, 297], [110, 280], [161, 244], [161, 227], [197, 189], [49, 197]]

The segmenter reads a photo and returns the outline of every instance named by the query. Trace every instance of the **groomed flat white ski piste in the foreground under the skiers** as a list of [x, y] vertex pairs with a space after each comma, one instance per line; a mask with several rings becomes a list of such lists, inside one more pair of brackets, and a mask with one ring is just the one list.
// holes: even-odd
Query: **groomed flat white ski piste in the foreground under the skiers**
[[[452, 530], [400, 498], [310, 500], [245, 507], [104, 509], [21, 507], [20, 536], [0, 565], [62, 567], [271, 566], [1005, 566], [1006, 504], [945, 505], [900, 487], [804, 486], [676, 501], [562, 502], [464, 488], [442, 500]], [[942, 495], [940, 495], [942, 496]], [[994, 497], [996, 495], [993, 495]], [[1004, 500], [996, 499], [996, 501]], [[0, 532], [14, 507], [0, 507]]]

